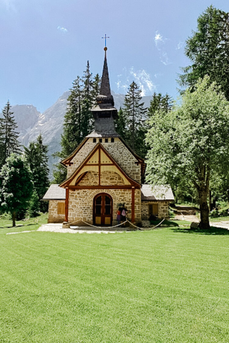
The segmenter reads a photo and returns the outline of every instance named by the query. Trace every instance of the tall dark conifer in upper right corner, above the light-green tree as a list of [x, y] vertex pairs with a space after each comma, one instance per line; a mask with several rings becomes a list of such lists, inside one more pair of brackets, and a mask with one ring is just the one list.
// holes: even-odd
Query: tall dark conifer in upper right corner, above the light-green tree
[[229, 13], [212, 5], [197, 19], [197, 31], [186, 40], [185, 55], [192, 64], [182, 68], [180, 85], [194, 86], [208, 74], [210, 81], [221, 85], [229, 100]]

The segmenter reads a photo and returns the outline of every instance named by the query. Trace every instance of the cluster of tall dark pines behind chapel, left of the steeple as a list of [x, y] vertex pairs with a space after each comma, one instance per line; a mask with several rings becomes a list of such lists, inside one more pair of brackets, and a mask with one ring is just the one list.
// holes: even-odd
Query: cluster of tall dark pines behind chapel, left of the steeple
[[[60, 159], [70, 155], [81, 141], [92, 131], [93, 116], [91, 108], [95, 104], [95, 97], [99, 94], [100, 77], [96, 74], [92, 79], [89, 61], [82, 78], [77, 76], [70, 88], [67, 112], [64, 118], [64, 129], [61, 135], [61, 152], [54, 154]], [[53, 172], [54, 183], [65, 180], [67, 171], [60, 164], [55, 165]]]

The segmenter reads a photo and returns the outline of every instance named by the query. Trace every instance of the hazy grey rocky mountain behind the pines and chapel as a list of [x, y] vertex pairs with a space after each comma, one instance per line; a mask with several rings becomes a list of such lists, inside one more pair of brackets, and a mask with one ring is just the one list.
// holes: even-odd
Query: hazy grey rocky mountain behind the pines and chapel
[[[61, 149], [60, 139], [69, 94], [70, 91], [67, 91], [61, 95], [55, 104], [45, 110], [44, 113], [38, 112], [33, 105], [12, 106], [12, 112], [18, 124], [17, 131], [19, 132], [19, 141], [21, 144], [28, 146], [41, 133], [43, 143], [48, 145], [50, 178], [52, 176], [53, 164], [57, 163], [57, 158], [54, 158], [52, 154]], [[114, 92], [112, 92], [112, 95], [114, 97], [115, 107], [119, 109], [123, 106], [125, 95]], [[152, 96], [142, 97], [142, 102], [145, 103], [145, 107], [149, 107], [151, 98]]]

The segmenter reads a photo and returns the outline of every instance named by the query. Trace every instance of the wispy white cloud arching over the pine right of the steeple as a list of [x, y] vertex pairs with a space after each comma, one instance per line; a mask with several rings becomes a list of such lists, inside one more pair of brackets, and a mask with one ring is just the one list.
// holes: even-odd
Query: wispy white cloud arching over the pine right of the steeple
[[118, 75], [116, 86], [118, 91], [127, 92], [129, 85], [135, 81], [141, 90], [141, 96], [152, 95], [156, 91], [156, 85], [150, 79], [150, 74], [145, 69], [135, 70], [131, 67], [129, 70], [123, 69], [123, 73]]

